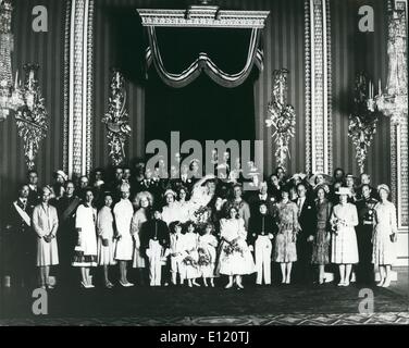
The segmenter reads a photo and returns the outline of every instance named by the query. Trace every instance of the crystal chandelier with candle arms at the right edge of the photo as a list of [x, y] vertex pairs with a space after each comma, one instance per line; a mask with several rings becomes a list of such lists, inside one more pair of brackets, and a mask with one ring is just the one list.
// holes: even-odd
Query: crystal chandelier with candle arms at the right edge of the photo
[[374, 96], [373, 84], [370, 83], [368, 109], [377, 109], [391, 117], [394, 125], [400, 124], [408, 115], [408, 66], [405, 2], [395, 3], [388, 16], [388, 73], [385, 92], [382, 92], [381, 80], [379, 94]]

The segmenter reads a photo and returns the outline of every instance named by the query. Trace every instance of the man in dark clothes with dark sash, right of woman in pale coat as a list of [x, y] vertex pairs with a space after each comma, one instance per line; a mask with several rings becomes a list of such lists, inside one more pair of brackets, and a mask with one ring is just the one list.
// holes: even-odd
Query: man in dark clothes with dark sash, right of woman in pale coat
[[65, 184], [65, 194], [58, 201], [57, 211], [59, 214], [59, 232], [57, 243], [60, 258], [60, 282], [73, 284], [73, 250], [75, 248], [77, 236], [75, 232], [75, 212], [80, 203], [80, 199], [74, 195], [75, 185], [72, 181]]

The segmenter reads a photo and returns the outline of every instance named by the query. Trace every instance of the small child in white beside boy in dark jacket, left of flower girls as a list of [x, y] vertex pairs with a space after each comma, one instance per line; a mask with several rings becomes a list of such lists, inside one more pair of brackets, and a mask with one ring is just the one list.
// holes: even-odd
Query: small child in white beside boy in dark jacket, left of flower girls
[[172, 284], [177, 284], [177, 274], [179, 275], [181, 285], [183, 285], [186, 278], [186, 269], [183, 263], [186, 257], [184, 235], [182, 234], [182, 223], [174, 221], [171, 223], [171, 273]]

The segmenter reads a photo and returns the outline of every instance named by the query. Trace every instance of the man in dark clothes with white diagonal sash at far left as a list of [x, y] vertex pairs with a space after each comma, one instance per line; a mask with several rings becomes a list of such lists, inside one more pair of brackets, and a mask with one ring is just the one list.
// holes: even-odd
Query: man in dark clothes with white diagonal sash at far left
[[33, 209], [28, 201], [29, 187], [23, 185], [10, 210], [7, 229], [11, 232], [11, 261], [16, 286], [29, 286], [34, 273], [35, 238], [32, 229]]

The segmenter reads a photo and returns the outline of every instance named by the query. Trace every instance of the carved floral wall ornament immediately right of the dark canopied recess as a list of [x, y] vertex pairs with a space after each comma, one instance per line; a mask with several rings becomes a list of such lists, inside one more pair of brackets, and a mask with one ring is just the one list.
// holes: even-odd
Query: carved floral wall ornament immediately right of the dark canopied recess
[[289, 140], [295, 136], [296, 113], [292, 105], [286, 103], [287, 97], [287, 74], [286, 69], [273, 72], [273, 92], [269, 103], [269, 119], [265, 120], [268, 127], [274, 126], [272, 135], [275, 145], [276, 163], [285, 167], [286, 157], [289, 158]]

